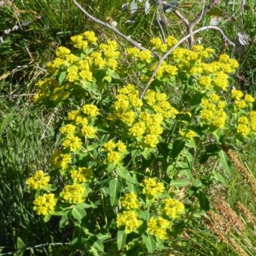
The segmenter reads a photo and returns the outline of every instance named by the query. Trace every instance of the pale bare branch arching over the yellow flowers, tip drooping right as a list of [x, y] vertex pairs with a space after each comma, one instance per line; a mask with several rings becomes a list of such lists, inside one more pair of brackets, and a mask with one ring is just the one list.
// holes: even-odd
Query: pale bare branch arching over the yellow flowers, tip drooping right
[[218, 31], [218, 32], [220, 33], [221, 38], [222, 38], [223, 41], [227, 42], [227, 44], [229, 44], [229, 45], [232, 45], [233, 48], [235, 47], [235, 44], [234, 44], [233, 42], [231, 42], [231, 41], [227, 38], [227, 36], [225, 36], [225, 34], [223, 33], [223, 31], [222, 31], [220, 28], [218, 28], [218, 27], [216, 27], [216, 26], [206, 26], [206, 27], [203, 27], [203, 28], [196, 29], [195, 31], [192, 31], [191, 34], [186, 35], [184, 38], [182, 38], [181, 40], [179, 40], [179, 42], [177, 42], [177, 44], [175, 44], [175, 45], [174, 45], [168, 52], [166, 52], [166, 53], [164, 54], [164, 56], [159, 60], [156, 69], [154, 70], [152, 76], [151, 76], [150, 79], [148, 80], [148, 83], [146, 84], [146, 86], [145, 86], [143, 92], [142, 92], [141, 95], [140, 95], [140, 99], [142, 99], [143, 96], [144, 96], [144, 94], [147, 92], [149, 84], [152, 82], [152, 79], [154, 78], [154, 76], [156, 76], [157, 70], [159, 70], [159, 67], [161, 66], [161, 64], [163, 63], [163, 61], [168, 57], [168, 55], [169, 55], [174, 49], [176, 49], [180, 44], [182, 44], [182, 42], [184, 42], [185, 40], [187, 40], [190, 36], [193, 36], [193, 35], [195, 35], [196, 33], [201, 32], [201, 31], [203, 31], [203, 30], [205, 30], [205, 29], [214, 29], [214, 30]]

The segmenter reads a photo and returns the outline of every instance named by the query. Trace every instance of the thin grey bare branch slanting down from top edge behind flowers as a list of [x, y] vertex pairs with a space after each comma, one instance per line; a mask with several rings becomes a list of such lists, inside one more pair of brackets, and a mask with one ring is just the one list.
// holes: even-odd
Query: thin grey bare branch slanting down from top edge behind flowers
[[[86, 17], [88, 17], [88, 19], [91, 19], [93, 22], [95, 22], [97, 24], [100, 24], [100, 25], [102, 25], [102, 26], [112, 30], [117, 35], [121, 36], [122, 38], [127, 40], [127, 42], [131, 43], [132, 45], [134, 45], [138, 49], [140, 49], [140, 50], [147, 50], [145, 47], [142, 47], [141, 45], [139, 45], [136, 41], [134, 41], [131, 38], [129, 38], [128, 36], [125, 36], [124, 34], [122, 34], [118, 29], [116, 29], [113, 26], [109, 25], [108, 23], [102, 22], [101, 20], [98, 20], [95, 17], [93, 17], [92, 15], [90, 15], [88, 12], [86, 12], [86, 10], [84, 10], [84, 8], [79, 3], [77, 3], [76, 0], [73, 0], [73, 3], [76, 4], [77, 8], [79, 8], [79, 10], [81, 10], [81, 12], [83, 12], [86, 15]], [[160, 57], [155, 52], [151, 52], [151, 53], [152, 53], [152, 55], [154, 57], [160, 59]]]

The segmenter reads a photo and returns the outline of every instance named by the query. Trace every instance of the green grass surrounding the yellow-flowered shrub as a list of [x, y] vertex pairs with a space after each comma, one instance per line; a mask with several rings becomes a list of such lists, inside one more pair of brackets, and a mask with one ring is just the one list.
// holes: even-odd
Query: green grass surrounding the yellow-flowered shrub
[[[234, 0], [235, 1], [235, 0]], [[122, 13], [120, 3], [117, 1], [83, 1], [86, 8], [90, 8], [90, 13], [101, 20], [108, 17], [115, 20], [117, 28], [125, 35], [131, 35], [134, 40], [148, 46], [148, 38], [157, 35], [158, 31], [154, 25], [154, 13], [145, 15], [138, 12], [134, 15], [136, 21], [126, 24], [127, 19], [131, 19], [129, 13]], [[228, 4], [225, 9], [227, 17], [234, 14], [233, 6], [238, 12], [235, 14], [237, 22], [227, 19], [220, 23], [220, 28], [225, 31], [228, 38], [237, 40], [237, 32], [244, 31], [249, 35], [250, 42], [256, 34], [254, 11], [244, 11], [241, 15], [239, 10], [240, 2], [236, 5]], [[70, 230], [65, 230], [64, 234], [56, 226], [54, 219], [45, 224], [33, 212], [31, 195], [26, 190], [26, 179], [35, 170], [45, 169], [48, 166], [48, 159], [56, 145], [52, 145], [54, 138], [54, 122], [58, 122], [61, 111], [58, 113], [48, 113], [47, 110], [34, 106], [32, 95], [35, 92], [34, 85], [38, 79], [45, 76], [45, 63], [52, 60], [54, 50], [59, 45], [68, 45], [70, 36], [84, 30], [93, 30], [102, 38], [115, 37], [113, 33], [106, 29], [99, 28], [96, 24], [89, 22], [70, 0], [60, 1], [15, 1], [13, 4], [5, 4], [0, 8], [0, 36], [3, 36], [4, 43], [0, 44], [0, 74], [10, 73], [6, 79], [0, 80], [1, 98], [1, 125], [0, 125], [0, 248], [4, 247], [3, 253], [38, 246], [40, 244], [52, 243], [52, 252], [47, 246], [38, 246], [30, 250], [33, 255], [71, 255], [68, 251], [69, 243], [72, 239]], [[224, 3], [221, 3], [224, 5]], [[253, 6], [252, 2], [246, 3]], [[223, 9], [223, 6], [220, 7]], [[191, 8], [181, 8], [180, 11], [192, 19], [192, 13], [197, 13], [200, 6]], [[236, 11], [235, 10], [235, 11]], [[166, 15], [170, 19], [170, 28], [164, 27], [166, 33], [176, 35], [181, 38], [185, 28], [183, 24], [178, 24], [177, 18], [172, 13]], [[202, 24], [208, 24], [210, 17], [205, 16]], [[21, 24], [29, 20], [28, 26]], [[243, 20], [243, 22], [242, 22]], [[6, 29], [19, 26], [17, 30], [4, 33]], [[244, 24], [244, 26], [243, 26]], [[216, 34], [213, 31], [205, 31], [200, 35], [203, 43], [207, 47], [214, 47], [218, 51], [221, 49], [220, 40], [215, 40]], [[119, 39], [118, 39], [119, 40]], [[120, 44], [127, 45], [124, 40]], [[217, 52], [218, 52], [217, 51]], [[250, 47], [240, 58], [241, 67], [236, 86], [256, 95], [255, 81], [255, 44]], [[232, 53], [228, 49], [228, 53]], [[248, 163], [248, 166], [255, 166], [255, 147], [246, 145], [241, 159]], [[253, 168], [252, 168], [253, 170]], [[253, 173], [255, 175], [255, 173]], [[237, 170], [232, 170], [230, 175], [224, 174], [227, 186], [216, 189], [214, 193], [220, 193], [225, 197], [228, 204], [235, 206], [237, 200], [250, 207], [252, 195], [248, 186], [244, 184], [243, 177]], [[201, 223], [198, 223], [201, 225]], [[188, 243], [184, 243], [186, 255], [236, 255], [225, 252], [224, 246], [216, 244], [216, 237], [209, 236], [205, 239], [205, 230], [189, 230]], [[22, 243], [20, 242], [23, 241]], [[48, 246], [49, 247], [49, 246]], [[61, 250], [60, 250], [61, 248]], [[175, 251], [175, 250], [174, 250]], [[175, 251], [175, 255], [185, 255], [184, 252]], [[1, 255], [1, 251], [0, 251]], [[79, 255], [79, 252], [76, 253]]]

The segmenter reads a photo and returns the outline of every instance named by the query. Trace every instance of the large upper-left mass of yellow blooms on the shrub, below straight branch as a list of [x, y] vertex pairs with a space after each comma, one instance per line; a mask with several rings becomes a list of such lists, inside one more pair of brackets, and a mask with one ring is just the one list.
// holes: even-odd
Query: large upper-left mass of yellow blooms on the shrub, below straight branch
[[[97, 44], [97, 37], [92, 31], [86, 31], [81, 35], [71, 37], [74, 47], [83, 51], [83, 54], [74, 55], [66, 47], [58, 47], [57, 58], [47, 63], [47, 70], [55, 79], [44, 79], [36, 84], [38, 92], [34, 100], [46, 102], [49, 99], [54, 104], [61, 104], [70, 95], [76, 96], [77, 84], [95, 82], [93, 74], [99, 69], [115, 70], [119, 63], [116, 60], [120, 55], [118, 44], [108, 41], [107, 44]], [[150, 53], [151, 54], [151, 53]], [[65, 72], [67, 73], [65, 76]], [[63, 77], [65, 76], [65, 77]], [[61, 77], [61, 82], [60, 81]]]

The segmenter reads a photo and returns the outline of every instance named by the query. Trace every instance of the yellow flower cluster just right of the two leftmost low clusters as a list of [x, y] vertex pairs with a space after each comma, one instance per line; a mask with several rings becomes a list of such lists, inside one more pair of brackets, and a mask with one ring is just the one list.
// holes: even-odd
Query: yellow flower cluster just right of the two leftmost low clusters
[[65, 186], [60, 196], [70, 204], [81, 204], [84, 202], [87, 193], [82, 184], [74, 184]]

